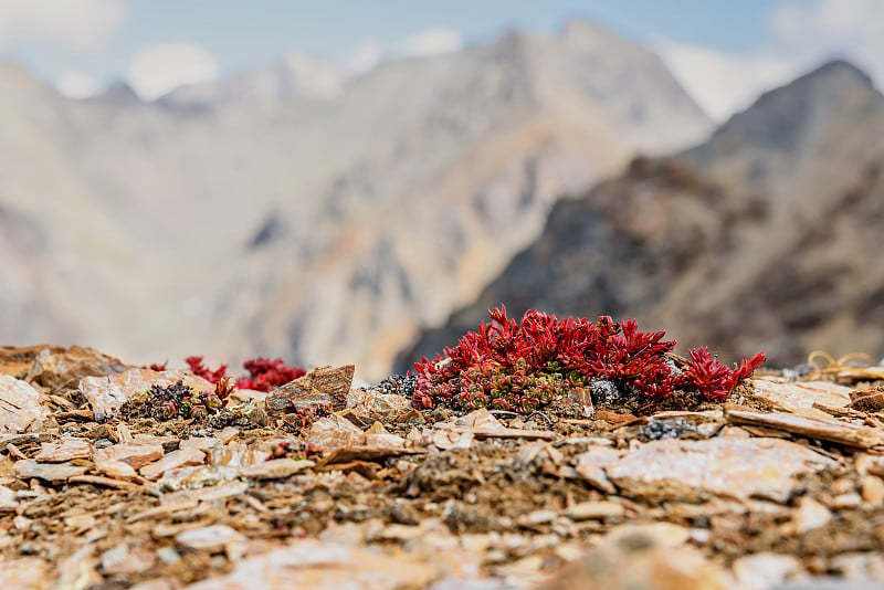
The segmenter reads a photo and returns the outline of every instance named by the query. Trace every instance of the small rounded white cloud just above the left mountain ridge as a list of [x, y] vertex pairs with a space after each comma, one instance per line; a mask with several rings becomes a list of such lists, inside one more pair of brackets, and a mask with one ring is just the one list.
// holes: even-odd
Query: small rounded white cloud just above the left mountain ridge
[[185, 84], [218, 78], [212, 54], [193, 43], [149, 45], [135, 54], [126, 71], [129, 85], [145, 101], [159, 98]]

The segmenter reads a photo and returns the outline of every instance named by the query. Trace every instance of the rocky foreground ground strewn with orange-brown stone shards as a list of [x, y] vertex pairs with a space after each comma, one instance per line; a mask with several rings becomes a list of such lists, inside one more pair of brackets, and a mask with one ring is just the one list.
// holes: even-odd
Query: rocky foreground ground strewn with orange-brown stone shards
[[340, 368], [194, 420], [145, 394], [189, 371], [2, 347], [0, 586], [877, 588], [882, 371], [524, 417]]

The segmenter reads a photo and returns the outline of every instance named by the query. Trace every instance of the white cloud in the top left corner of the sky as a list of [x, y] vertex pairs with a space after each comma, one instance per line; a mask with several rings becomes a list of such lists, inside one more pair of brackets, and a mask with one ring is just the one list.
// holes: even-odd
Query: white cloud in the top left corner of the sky
[[0, 0], [0, 46], [104, 50], [126, 17], [122, 0]]

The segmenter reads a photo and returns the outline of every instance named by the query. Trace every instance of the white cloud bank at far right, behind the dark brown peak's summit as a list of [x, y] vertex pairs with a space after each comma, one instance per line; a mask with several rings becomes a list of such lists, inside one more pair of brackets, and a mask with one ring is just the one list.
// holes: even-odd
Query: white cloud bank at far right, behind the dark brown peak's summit
[[770, 39], [754, 54], [726, 54], [672, 41], [653, 49], [715, 119], [832, 57], [846, 57], [884, 82], [884, 1], [785, 2], [769, 14]]

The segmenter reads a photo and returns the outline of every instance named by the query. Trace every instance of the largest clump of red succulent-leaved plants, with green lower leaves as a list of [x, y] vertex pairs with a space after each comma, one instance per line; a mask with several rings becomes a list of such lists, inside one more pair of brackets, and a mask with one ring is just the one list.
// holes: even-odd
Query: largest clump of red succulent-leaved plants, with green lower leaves
[[466, 333], [456, 346], [414, 365], [417, 409], [484, 407], [530, 413], [593, 379], [655, 399], [685, 389], [723, 400], [765, 361], [758, 352], [728, 369], [707, 348], [698, 348], [678, 371], [665, 356], [675, 343], [663, 340], [663, 331], [640, 331], [634, 319], [558, 319], [529, 309], [516, 322], [503, 305], [488, 315], [491, 323]]

